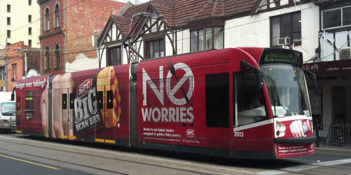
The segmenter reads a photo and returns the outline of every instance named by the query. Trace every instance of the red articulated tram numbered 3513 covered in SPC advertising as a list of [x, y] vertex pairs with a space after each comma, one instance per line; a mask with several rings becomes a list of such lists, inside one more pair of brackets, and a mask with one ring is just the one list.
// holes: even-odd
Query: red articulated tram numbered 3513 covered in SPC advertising
[[302, 60], [230, 48], [18, 80], [17, 132], [218, 157], [311, 155]]

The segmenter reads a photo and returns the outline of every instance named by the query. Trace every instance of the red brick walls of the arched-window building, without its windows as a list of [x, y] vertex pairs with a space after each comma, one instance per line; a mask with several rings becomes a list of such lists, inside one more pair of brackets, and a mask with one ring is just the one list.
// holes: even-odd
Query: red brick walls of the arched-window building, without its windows
[[[95, 50], [96, 48], [92, 46], [92, 33], [100, 32], [104, 29], [105, 23], [108, 17], [111, 15], [116, 15], [124, 6], [124, 3], [112, 1], [112, 0], [85, 0], [81, 3], [81, 0], [51, 0], [40, 5], [41, 10], [41, 35], [53, 34], [57, 31], [63, 30], [65, 34], [58, 33], [54, 35], [49, 35], [47, 37], [42, 37], [41, 49], [41, 69], [40, 73], [64, 73], [65, 62], [73, 62], [75, 56], [82, 52], [88, 55], [89, 58], [96, 58], [97, 52], [84, 52], [89, 50]], [[67, 8], [61, 11], [61, 25], [59, 28], [53, 28], [53, 15], [50, 18], [51, 27], [50, 31], [44, 31], [44, 14], [47, 7], [50, 8], [50, 13], [53, 14], [54, 6], [56, 2], [59, 2], [60, 9]], [[78, 4], [76, 4], [78, 3]], [[76, 5], [73, 5], [76, 4]], [[97, 34], [96, 34], [97, 35]], [[44, 49], [47, 44], [50, 45], [51, 51], [55, 46], [55, 42], [58, 42], [61, 48], [61, 69], [54, 70], [53, 60], [54, 56], [51, 56], [52, 67], [51, 70], [45, 70], [45, 59], [44, 59]], [[73, 54], [67, 54], [73, 53]], [[53, 55], [53, 52], [51, 53]]]

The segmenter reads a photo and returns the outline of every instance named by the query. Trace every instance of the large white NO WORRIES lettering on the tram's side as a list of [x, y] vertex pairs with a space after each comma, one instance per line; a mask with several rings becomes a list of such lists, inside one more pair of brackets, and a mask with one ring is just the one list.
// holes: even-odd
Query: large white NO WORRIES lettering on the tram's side
[[[185, 72], [181, 77], [176, 77], [177, 80], [174, 87], [171, 87], [171, 80], [174, 72], [171, 70], [167, 71], [166, 79], [163, 78], [163, 66], [159, 67], [158, 79], [152, 80], [149, 74], [142, 69], [142, 93], [143, 93], [143, 101], [142, 105], [147, 106], [147, 85], [150, 86], [151, 90], [156, 95], [158, 101], [162, 106], [164, 106], [164, 88], [167, 92], [168, 99], [172, 102], [172, 104], [177, 105], [179, 107], [145, 107], [141, 108], [142, 119], [144, 122], [179, 122], [179, 123], [193, 123], [194, 115], [193, 115], [193, 107], [192, 106], [181, 106], [186, 105], [189, 100], [193, 96], [194, 91], [194, 77], [193, 72], [190, 67], [184, 63], [176, 63], [173, 65], [175, 70], [183, 70]], [[172, 68], [170, 68], [172, 69]], [[178, 92], [183, 85], [189, 80], [189, 88], [182, 89], [184, 93], [182, 98], [175, 97], [176, 92]], [[166, 81], [166, 82], [164, 82]], [[166, 87], [164, 87], [164, 83]], [[158, 87], [157, 87], [158, 85]], [[151, 100], [151, 99], [149, 99]], [[155, 101], [153, 101], [155, 102]], [[152, 104], [156, 105], [156, 104]]]

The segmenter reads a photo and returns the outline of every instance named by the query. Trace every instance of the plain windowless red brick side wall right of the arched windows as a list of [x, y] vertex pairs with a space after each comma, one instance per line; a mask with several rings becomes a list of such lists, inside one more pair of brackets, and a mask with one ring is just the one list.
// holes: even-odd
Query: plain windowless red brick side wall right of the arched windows
[[[80, 0], [67, 0], [66, 6], [78, 1]], [[111, 0], [88, 0], [67, 9], [67, 52], [75, 53], [96, 49], [92, 46], [92, 35], [89, 34], [102, 31], [111, 13], [117, 15], [123, 6], [124, 3]], [[79, 38], [75, 39], [77, 37]], [[67, 62], [74, 61], [77, 54], [66, 55]], [[96, 51], [84, 54], [89, 58], [97, 57]]]

